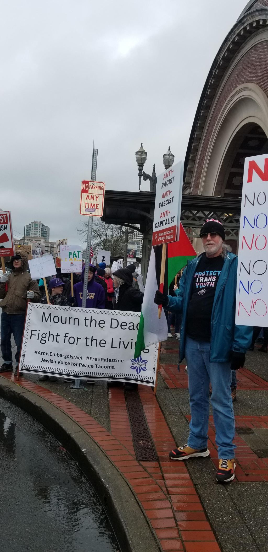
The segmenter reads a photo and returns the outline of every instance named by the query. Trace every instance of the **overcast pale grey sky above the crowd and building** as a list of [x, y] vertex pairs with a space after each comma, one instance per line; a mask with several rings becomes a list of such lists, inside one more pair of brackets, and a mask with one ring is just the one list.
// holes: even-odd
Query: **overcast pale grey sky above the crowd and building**
[[[246, 0], [8, 0], [0, 12], [0, 208], [79, 243], [82, 179], [138, 191], [135, 151], [184, 158], [212, 61]], [[142, 189], [148, 189], [142, 181]]]

